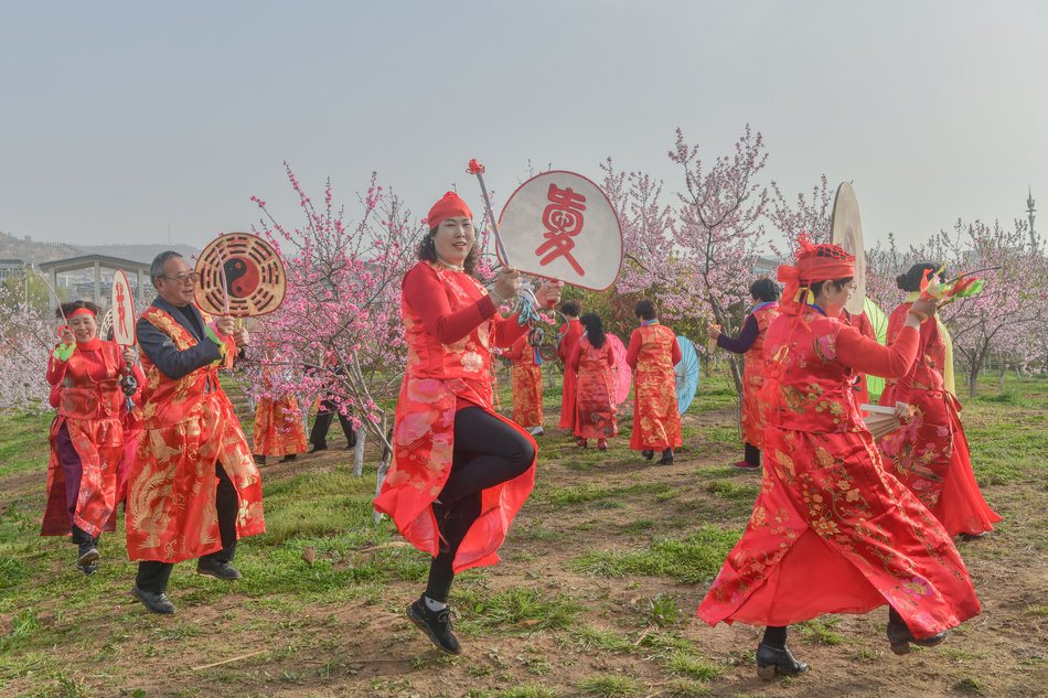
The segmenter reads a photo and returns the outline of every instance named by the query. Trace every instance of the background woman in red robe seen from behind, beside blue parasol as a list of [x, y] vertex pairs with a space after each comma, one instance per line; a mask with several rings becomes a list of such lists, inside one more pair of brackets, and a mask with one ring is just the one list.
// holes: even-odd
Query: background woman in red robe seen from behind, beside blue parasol
[[681, 361], [681, 346], [673, 330], [659, 324], [655, 304], [640, 301], [633, 308], [641, 326], [630, 335], [625, 361], [633, 369], [633, 434], [630, 448], [651, 460], [662, 451], [660, 465], [673, 462], [681, 445], [677, 382], [673, 367]]

